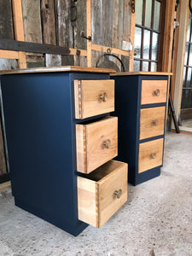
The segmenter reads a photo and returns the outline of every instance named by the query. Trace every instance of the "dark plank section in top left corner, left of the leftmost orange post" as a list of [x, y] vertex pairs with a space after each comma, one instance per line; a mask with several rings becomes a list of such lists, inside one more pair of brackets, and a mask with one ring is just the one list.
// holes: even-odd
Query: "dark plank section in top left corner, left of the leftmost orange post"
[[0, 1], [0, 38], [14, 39], [11, 0]]

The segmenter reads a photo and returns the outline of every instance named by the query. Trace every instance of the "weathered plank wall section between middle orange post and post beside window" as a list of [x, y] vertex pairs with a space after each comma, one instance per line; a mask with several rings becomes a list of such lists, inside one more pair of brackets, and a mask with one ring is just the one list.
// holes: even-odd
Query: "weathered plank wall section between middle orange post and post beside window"
[[[91, 3], [91, 29], [92, 43], [108, 48], [122, 49], [123, 40], [129, 41], [126, 36], [130, 33], [131, 4], [130, 0], [98, 0]], [[92, 52], [92, 66], [96, 66], [96, 61], [102, 52]], [[129, 70], [129, 57], [117, 55], [124, 63], [125, 71]], [[111, 57], [120, 69], [119, 61]]]

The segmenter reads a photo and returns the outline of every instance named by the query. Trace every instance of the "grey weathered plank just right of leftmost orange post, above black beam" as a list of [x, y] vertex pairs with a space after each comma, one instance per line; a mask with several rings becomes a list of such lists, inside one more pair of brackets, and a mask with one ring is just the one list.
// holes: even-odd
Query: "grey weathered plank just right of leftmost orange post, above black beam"
[[42, 27], [39, 0], [22, 0], [25, 41], [42, 44]]

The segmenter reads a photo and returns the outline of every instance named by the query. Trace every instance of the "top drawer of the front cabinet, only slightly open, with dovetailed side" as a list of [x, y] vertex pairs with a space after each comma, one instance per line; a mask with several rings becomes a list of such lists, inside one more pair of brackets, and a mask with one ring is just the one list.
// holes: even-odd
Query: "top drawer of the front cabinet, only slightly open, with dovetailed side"
[[75, 118], [114, 111], [113, 80], [74, 80]]

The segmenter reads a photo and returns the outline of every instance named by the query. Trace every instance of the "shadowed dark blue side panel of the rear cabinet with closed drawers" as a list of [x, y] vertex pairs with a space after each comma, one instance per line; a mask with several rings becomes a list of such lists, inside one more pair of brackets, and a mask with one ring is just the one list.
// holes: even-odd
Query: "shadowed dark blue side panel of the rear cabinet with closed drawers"
[[138, 104], [140, 99], [137, 76], [112, 77], [115, 80], [115, 112], [119, 119], [117, 160], [128, 163], [128, 182], [135, 183], [138, 159]]

